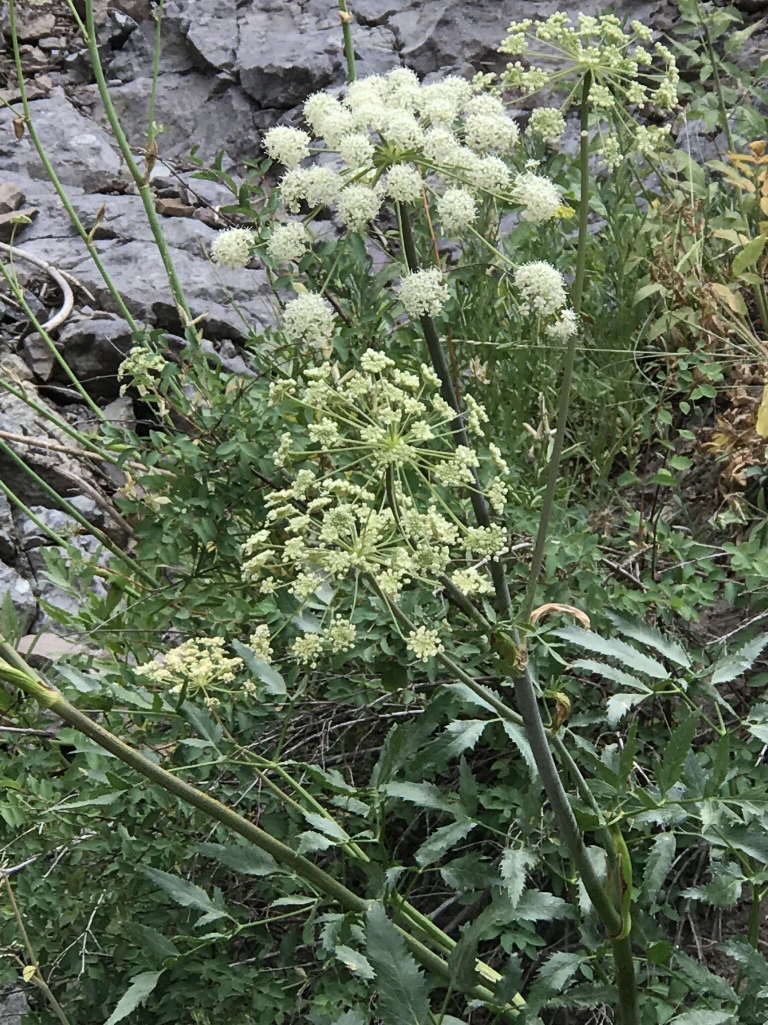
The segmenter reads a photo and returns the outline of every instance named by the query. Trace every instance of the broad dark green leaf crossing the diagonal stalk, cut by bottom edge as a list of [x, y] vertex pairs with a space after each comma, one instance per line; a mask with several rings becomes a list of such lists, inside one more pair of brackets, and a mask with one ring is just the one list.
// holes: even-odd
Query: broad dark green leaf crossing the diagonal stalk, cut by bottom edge
[[381, 904], [366, 915], [366, 951], [376, 972], [382, 1025], [423, 1025], [429, 1014], [426, 981]]

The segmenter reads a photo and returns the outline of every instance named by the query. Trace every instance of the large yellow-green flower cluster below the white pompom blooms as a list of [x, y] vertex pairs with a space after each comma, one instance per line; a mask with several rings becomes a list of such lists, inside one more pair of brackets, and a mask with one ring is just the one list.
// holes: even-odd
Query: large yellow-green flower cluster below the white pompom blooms
[[[507, 466], [494, 445], [485, 456], [454, 444], [456, 414], [430, 368], [400, 370], [369, 350], [360, 370], [340, 377], [325, 363], [304, 379], [273, 382], [270, 400], [285, 404], [287, 415], [301, 410], [297, 422], [311, 422], [303, 437], [283, 436], [275, 463], [291, 483], [268, 495], [265, 525], [243, 546], [242, 576], [257, 593], [284, 590], [301, 605], [324, 584], [338, 590], [361, 574], [394, 599], [413, 580], [434, 586], [452, 564], [483, 563], [505, 550], [501, 525], [466, 527], [461, 516], [446, 515], [449, 498], [454, 509], [466, 504], [480, 473], [503, 512]], [[467, 403], [467, 421], [482, 439], [487, 414], [475, 400]], [[486, 571], [458, 572], [457, 585], [463, 581], [468, 593], [490, 586]], [[251, 640], [264, 657], [268, 636]], [[314, 665], [354, 640], [355, 627], [337, 614], [318, 633], [297, 638], [292, 653]]]

